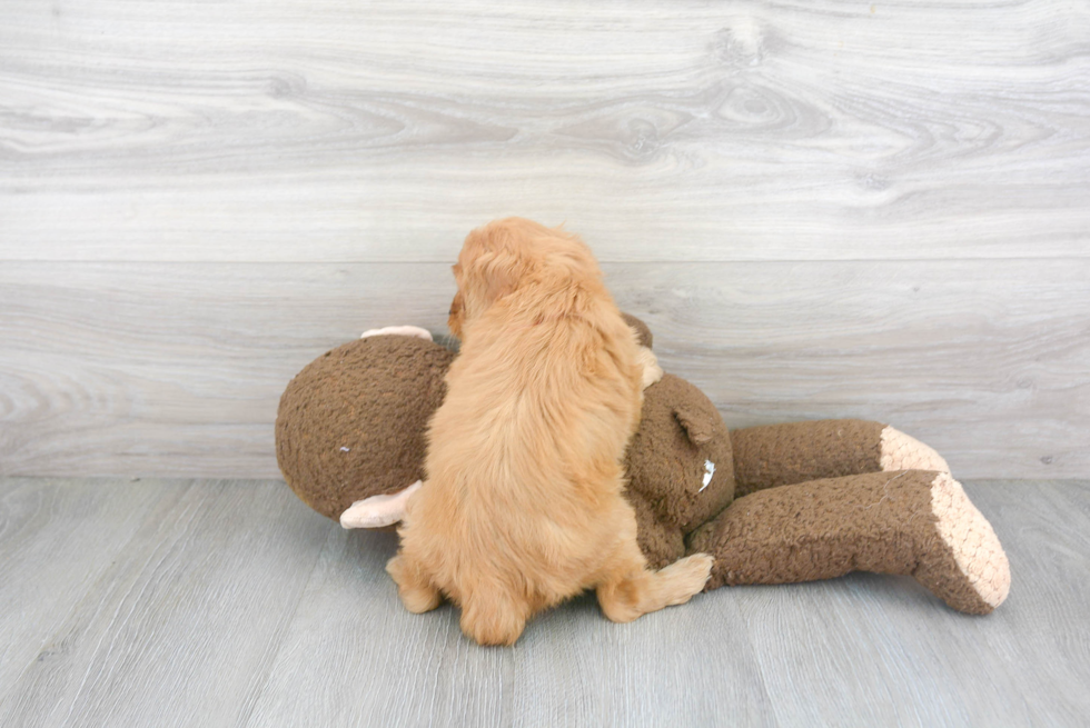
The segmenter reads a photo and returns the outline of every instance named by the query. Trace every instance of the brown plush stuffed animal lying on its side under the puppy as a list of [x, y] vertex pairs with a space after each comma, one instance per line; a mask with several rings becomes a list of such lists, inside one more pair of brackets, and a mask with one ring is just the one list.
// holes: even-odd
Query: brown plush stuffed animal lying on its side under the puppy
[[[630, 323], [650, 347], [646, 326]], [[346, 528], [399, 520], [424, 477], [424, 433], [453, 358], [426, 332], [399, 327], [308, 365], [277, 416], [288, 485]], [[988, 614], [1010, 588], [999, 539], [945, 461], [885, 425], [731, 432], [703, 392], [664, 375], [644, 392], [626, 468], [648, 562], [710, 554], [708, 589], [863, 570], [913, 576], [950, 607]]]

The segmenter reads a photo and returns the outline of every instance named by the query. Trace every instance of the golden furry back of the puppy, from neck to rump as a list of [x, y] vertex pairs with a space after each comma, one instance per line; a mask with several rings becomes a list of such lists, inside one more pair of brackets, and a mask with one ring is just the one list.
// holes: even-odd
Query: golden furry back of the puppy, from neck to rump
[[428, 433], [444, 560], [495, 568], [549, 604], [583, 588], [640, 410], [635, 336], [593, 258], [573, 270], [578, 246], [559, 241], [554, 270], [468, 322]]

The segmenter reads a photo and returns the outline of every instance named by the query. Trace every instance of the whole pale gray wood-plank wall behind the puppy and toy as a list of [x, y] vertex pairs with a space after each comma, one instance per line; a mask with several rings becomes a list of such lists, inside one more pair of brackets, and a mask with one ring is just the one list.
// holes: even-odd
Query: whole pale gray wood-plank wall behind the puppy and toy
[[567, 221], [729, 423], [1090, 475], [1083, 2], [131, 3], [0, 21], [0, 475], [275, 477], [277, 397]]

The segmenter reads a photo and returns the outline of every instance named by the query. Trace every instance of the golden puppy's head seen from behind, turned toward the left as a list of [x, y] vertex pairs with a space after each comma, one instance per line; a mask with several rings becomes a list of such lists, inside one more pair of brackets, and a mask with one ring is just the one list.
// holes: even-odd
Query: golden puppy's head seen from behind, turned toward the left
[[524, 218], [489, 222], [466, 236], [454, 266], [458, 292], [450, 302], [450, 331], [462, 338], [467, 322], [527, 282], [597, 275], [591, 251], [575, 236]]

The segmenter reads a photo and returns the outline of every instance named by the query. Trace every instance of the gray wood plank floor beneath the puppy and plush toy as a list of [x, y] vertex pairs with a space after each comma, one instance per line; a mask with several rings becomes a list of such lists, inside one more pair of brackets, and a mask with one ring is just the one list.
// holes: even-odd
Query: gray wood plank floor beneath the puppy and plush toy
[[483, 649], [283, 482], [2, 479], [0, 725], [1086, 725], [1090, 482], [967, 490], [1013, 572], [989, 617], [852, 575]]

